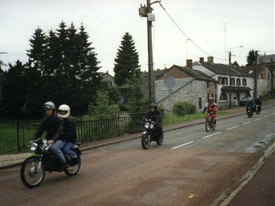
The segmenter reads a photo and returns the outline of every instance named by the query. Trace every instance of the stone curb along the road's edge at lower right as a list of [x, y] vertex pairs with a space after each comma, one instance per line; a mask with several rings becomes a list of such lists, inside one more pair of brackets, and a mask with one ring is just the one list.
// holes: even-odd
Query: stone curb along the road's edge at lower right
[[275, 143], [271, 144], [264, 152], [263, 152], [263, 156], [259, 159], [258, 162], [256, 162], [252, 168], [250, 169], [250, 174], [248, 174], [248, 177], [241, 183], [241, 185], [239, 185], [239, 187], [236, 187], [236, 190], [234, 190], [230, 196], [228, 196], [225, 201], [223, 201], [223, 203], [221, 203], [221, 205], [219, 206], [226, 206], [230, 203], [230, 201], [232, 201], [232, 199], [234, 198], [234, 196], [236, 196], [236, 194], [238, 194], [240, 192], [240, 190], [243, 189], [243, 187], [245, 185], [247, 185], [249, 183], [250, 180], [252, 180], [252, 178], [255, 176], [255, 174], [258, 172], [258, 170], [263, 166], [263, 164], [265, 163], [265, 161], [267, 161], [267, 159], [270, 157], [270, 155], [272, 155], [272, 153], [275, 151]]

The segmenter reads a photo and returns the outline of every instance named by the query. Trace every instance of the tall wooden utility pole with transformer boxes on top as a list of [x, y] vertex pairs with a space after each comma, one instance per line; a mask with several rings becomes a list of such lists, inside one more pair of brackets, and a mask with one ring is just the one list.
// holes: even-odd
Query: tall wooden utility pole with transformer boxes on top
[[[153, 3], [158, 3], [154, 1]], [[155, 76], [153, 69], [153, 44], [152, 44], [152, 21], [155, 21], [155, 16], [152, 14], [151, 0], [147, 0], [145, 5], [140, 5], [140, 16], [147, 17], [147, 39], [148, 39], [148, 86], [149, 86], [149, 98], [152, 103], [155, 103]]]

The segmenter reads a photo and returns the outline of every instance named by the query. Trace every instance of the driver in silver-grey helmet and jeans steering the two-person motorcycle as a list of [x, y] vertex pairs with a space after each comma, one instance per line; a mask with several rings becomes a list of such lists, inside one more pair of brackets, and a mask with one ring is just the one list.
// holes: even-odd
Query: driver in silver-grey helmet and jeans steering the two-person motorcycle
[[45, 118], [37, 128], [32, 140], [38, 139], [46, 131], [45, 139], [47, 139], [48, 144], [52, 144], [50, 150], [58, 157], [60, 163], [59, 171], [62, 172], [66, 166], [66, 160], [61, 151], [61, 148], [66, 144], [63, 137], [64, 120], [56, 115], [56, 106], [53, 102], [45, 102], [42, 108], [45, 111]]

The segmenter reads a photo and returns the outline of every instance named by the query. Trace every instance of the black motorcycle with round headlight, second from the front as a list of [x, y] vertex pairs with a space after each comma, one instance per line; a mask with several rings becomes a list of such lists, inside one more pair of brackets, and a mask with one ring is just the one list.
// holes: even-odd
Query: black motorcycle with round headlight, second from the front
[[142, 134], [142, 148], [147, 150], [151, 144], [151, 141], [156, 141], [157, 145], [161, 145], [164, 139], [164, 133], [161, 129], [161, 134], [157, 133], [155, 129], [155, 122], [151, 119], [144, 119], [144, 132]]

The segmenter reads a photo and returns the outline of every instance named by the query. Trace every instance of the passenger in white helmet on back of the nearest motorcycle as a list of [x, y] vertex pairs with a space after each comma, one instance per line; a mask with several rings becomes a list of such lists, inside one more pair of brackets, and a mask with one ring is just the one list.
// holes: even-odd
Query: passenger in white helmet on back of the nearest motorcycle
[[62, 104], [58, 107], [58, 117], [64, 119], [65, 128], [63, 136], [67, 140], [67, 143], [65, 144], [62, 151], [64, 154], [69, 155], [69, 157], [71, 158], [69, 164], [76, 165], [78, 163], [78, 157], [76, 153], [71, 150], [76, 143], [76, 125], [74, 121], [69, 118], [70, 113], [71, 109], [67, 104]]

